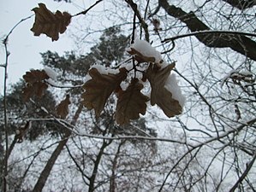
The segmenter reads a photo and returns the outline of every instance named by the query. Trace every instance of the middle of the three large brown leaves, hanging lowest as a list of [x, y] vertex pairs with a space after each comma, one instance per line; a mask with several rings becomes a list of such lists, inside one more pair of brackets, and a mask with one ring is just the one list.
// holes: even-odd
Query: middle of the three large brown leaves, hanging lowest
[[146, 102], [149, 98], [140, 92], [142, 88], [143, 84], [138, 79], [133, 79], [127, 90], [119, 92], [116, 105], [117, 124], [128, 124], [130, 119], [139, 119], [140, 113], [146, 113]]

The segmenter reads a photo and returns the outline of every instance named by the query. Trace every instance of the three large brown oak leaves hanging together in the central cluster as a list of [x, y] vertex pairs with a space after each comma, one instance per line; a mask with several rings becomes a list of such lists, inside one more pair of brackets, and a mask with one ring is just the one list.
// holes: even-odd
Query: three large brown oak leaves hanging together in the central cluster
[[139, 119], [140, 114], [146, 113], [146, 102], [151, 101], [152, 105], [157, 104], [166, 116], [174, 117], [182, 113], [182, 106], [172, 97], [170, 90], [165, 88], [166, 80], [175, 64], [160, 68], [150, 64], [144, 73], [144, 79], [148, 79], [152, 87], [151, 98], [140, 92], [144, 85], [139, 79], [132, 79], [128, 88], [122, 90], [120, 84], [127, 78], [128, 71], [120, 69], [117, 74], [101, 74], [97, 68], [90, 69], [89, 75], [92, 79], [88, 80], [83, 88], [83, 104], [86, 108], [94, 109], [98, 117], [103, 111], [107, 99], [112, 93], [116, 93], [116, 123], [119, 125], [128, 124], [131, 119]]

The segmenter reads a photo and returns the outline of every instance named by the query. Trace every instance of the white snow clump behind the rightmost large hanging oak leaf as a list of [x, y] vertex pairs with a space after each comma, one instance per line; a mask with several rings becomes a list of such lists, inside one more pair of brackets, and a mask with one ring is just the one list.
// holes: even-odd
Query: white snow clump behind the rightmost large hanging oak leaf
[[170, 73], [170, 76], [166, 80], [164, 87], [171, 92], [172, 97], [177, 100], [183, 108], [186, 102], [186, 97], [182, 95], [182, 90], [177, 83], [176, 75], [174, 73]]

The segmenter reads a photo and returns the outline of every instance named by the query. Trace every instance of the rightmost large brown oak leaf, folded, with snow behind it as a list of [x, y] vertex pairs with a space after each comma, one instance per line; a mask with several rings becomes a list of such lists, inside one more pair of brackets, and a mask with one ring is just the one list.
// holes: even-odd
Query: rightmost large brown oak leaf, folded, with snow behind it
[[152, 106], [157, 104], [168, 117], [174, 117], [175, 115], [182, 113], [182, 106], [176, 99], [172, 98], [171, 92], [164, 87], [164, 84], [170, 75], [170, 71], [174, 67], [175, 63], [170, 64], [163, 69], [151, 64], [145, 73], [145, 77], [149, 80], [152, 87]]

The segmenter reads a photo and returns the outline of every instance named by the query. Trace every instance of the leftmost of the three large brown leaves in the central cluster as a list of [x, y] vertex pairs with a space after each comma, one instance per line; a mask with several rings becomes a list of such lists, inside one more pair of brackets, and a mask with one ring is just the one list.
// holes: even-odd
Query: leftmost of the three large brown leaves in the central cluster
[[127, 77], [125, 68], [120, 68], [119, 71], [116, 74], [101, 74], [96, 68], [92, 68], [89, 71], [92, 79], [83, 85], [86, 90], [82, 94], [83, 105], [89, 109], [93, 108], [97, 117], [104, 109], [105, 102], [111, 93], [119, 90], [122, 80]]

